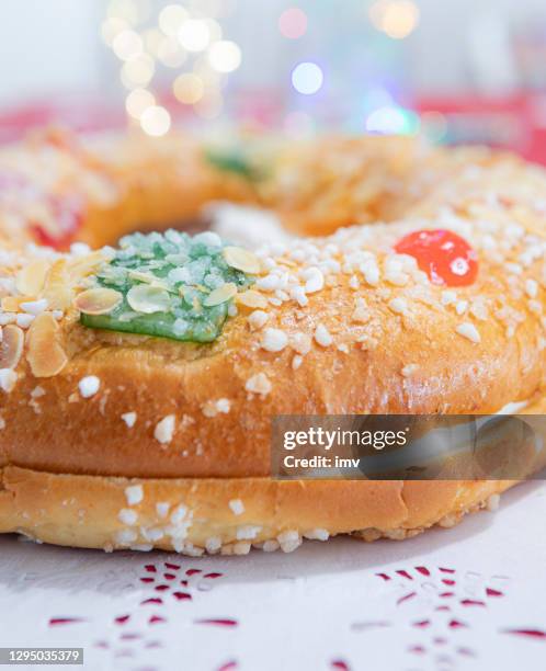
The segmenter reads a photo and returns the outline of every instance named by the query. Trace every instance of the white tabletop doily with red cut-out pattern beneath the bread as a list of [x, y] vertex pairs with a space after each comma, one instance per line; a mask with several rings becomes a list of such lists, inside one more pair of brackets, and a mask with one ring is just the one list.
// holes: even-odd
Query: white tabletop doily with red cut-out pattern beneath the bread
[[545, 524], [546, 484], [527, 482], [451, 530], [291, 555], [106, 555], [3, 536], [0, 644], [83, 647], [93, 671], [544, 671]]

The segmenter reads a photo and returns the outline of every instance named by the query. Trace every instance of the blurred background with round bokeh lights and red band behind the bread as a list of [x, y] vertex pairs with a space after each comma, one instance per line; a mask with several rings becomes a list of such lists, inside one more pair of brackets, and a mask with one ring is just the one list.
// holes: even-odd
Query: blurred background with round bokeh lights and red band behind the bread
[[0, 44], [0, 141], [236, 123], [546, 162], [544, 0], [3, 0]]

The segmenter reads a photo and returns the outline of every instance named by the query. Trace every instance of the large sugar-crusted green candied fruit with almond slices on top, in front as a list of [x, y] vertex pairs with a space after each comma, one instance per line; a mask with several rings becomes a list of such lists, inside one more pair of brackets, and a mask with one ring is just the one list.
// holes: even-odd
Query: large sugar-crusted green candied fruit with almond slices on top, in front
[[[250, 253], [209, 231], [126, 236], [91, 277], [83, 293], [89, 307], [81, 295], [80, 321], [93, 329], [212, 342], [234, 296], [253, 281], [234, 268], [240, 265], [238, 252]], [[98, 297], [104, 309], [96, 307]]]

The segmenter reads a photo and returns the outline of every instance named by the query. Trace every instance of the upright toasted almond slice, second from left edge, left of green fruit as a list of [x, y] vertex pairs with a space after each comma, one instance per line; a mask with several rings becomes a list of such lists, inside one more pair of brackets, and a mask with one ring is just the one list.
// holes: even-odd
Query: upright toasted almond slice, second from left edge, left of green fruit
[[50, 312], [38, 315], [27, 331], [26, 361], [35, 377], [53, 377], [68, 362], [60, 342], [60, 329]]

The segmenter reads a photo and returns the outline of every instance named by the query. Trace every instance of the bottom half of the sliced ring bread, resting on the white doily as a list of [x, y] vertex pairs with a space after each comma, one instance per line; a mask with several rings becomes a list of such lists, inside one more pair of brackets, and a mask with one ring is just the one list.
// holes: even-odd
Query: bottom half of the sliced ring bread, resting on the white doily
[[[57, 545], [152, 547], [201, 555], [251, 545], [295, 549], [338, 534], [401, 539], [453, 526], [512, 482], [274, 481], [269, 478], [145, 479], [1, 471], [0, 533]], [[132, 494], [141, 500], [129, 504]], [[159, 504], [159, 508], [158, 508]]]

